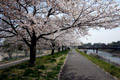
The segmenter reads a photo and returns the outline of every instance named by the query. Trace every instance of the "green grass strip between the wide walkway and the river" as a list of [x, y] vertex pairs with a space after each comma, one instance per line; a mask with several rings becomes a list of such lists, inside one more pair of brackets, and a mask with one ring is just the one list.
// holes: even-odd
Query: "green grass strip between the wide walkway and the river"
[[94, 56], [89, 56], [89, 55], [85, 54], [84, 52], [79, 51], [78, 49], [76, 49], [76, 51], [78, 53], [80, 53], [81, 55], [87, 57], [89, 60], [91, 60], [96, 65], [100, 66], [102, 69], [104, 69], [105, 71], [110, 73], [112, 76], [117, 77], [118, 80], [120, 80], [120, 68], [119, 67], [109, 64], [109, 63], [107, 63], [103, 60], [100, 60]]

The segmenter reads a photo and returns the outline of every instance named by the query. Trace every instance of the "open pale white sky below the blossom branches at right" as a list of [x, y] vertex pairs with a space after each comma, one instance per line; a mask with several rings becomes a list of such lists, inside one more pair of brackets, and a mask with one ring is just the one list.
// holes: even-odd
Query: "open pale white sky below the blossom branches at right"
[[84, 36], [81, 38], [83, 43], [111, 43], [113, 41], [120, 41], [120, 27], [114, 29], [99, 29], [89, 31], [91, 36]]

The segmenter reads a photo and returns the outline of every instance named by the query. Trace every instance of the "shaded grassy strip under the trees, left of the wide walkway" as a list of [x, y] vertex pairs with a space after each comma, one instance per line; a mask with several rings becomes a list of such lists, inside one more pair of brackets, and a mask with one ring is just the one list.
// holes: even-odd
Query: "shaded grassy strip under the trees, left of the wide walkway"
[[57, 80], [67, 51], [36, 59], [35, 66], [29, 62], [0, 70], [0, 80]]

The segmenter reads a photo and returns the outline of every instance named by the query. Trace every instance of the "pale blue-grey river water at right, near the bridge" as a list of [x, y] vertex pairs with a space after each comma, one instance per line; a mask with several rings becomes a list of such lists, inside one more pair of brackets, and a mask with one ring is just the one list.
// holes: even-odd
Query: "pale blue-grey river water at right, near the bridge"
[[[95, 53], [95, 52], [93, 52], [93, 50], [88, 50], [87, 51], [87, 54], [91, 54], [91, 53]], [[113, 56], [111, 53], [104, 52], [104, 51], [98, 51], [97, 54], [99, 56], [102, 56], [102, 57], [120, 65], [120, 57]]]

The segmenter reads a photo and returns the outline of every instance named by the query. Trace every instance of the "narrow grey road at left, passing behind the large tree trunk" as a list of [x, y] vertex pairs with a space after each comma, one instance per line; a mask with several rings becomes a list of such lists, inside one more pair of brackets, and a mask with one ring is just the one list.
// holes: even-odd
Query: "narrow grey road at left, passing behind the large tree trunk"
[[[49, 55], [49, 54], [41, 54], [41, 55], [39, 55], [39, 56], [37, 56], [37, 57], [46, 56], [46, 55]], [[25, 61], [28, 61], [28, 60], [29, 60], [29, 58], [25, 58], [25, 59], [13, 61], [13, 62], [10, 62], [10, 63], [1, 64], [1, 65], [0, 65], [0, 69], [8, 68], [8, 67], [11, 67], [11, 66], [20, 64], [20, 63], [25, 62]]]

